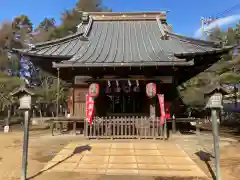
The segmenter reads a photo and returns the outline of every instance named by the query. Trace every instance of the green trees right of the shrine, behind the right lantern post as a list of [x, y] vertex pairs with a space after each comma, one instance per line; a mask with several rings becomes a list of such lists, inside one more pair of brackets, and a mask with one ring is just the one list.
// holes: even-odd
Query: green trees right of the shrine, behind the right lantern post
[[[217, 27], [209, 34], [207, 39], [220, 41], [223, 46], [237, 45], [240, 50], [240, 24], [237, 24], [234, 28], [228, 28], [227, 31], [222, 31]], [[239, 72], [240, 55], [237, 57], [232, 54], [222, 56], [222, 60], [180, 86], [183, 102], [190, 106], [203, 105], [204, 97], [201, 89], [215, 83], [240, 83]]]

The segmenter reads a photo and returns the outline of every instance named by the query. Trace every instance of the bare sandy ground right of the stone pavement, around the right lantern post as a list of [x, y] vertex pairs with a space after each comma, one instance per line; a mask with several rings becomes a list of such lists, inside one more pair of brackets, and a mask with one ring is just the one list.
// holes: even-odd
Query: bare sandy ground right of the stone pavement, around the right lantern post
[[[238, 137], [237, 137], [238, 138]], [[223, 180], [239, 180], [240, 172], [240, 143], [229, 137], [220, 137], [221, 176]], [[200, 166], [200, 168], [214, 179], [214, 149], [213, 136], [209, 132], [200, 135], [178, 133], [174, 141]]]

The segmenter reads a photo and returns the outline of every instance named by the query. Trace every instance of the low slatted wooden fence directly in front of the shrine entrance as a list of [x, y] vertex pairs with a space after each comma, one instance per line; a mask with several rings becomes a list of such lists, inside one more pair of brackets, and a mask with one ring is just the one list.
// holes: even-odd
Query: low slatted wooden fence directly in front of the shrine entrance
[[95, 117], [85, 121], [84, 136], [89, 139], [166, 139], [167, 123], [150, 117]]

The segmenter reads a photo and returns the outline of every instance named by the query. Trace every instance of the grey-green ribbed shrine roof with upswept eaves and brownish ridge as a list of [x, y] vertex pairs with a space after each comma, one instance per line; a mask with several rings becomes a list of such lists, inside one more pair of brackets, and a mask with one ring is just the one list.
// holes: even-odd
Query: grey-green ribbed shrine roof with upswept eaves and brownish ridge
[[121, 65], [192, 65], [186, 57], [226, 51], [217, 43], [170, 32], [160, 15], [92, 16], [76, 34], [36, 44], [26, 55], [59, 57], [57, 67]]

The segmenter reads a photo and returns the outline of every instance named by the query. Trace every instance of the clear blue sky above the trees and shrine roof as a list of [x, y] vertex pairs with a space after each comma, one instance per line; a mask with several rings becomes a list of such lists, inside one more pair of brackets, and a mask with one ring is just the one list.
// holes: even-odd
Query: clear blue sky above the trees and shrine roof
[[[61, 12], [74, 7], [77, 0], [0, 0], [0, 21], [12, 20], [25, 14], [34, 25], [44, 17], [54, 17], [59, 24]], [[193, 36], [200, 27], [200, 18], [223, 12], [239, 3], [239, 0], [103, 0], [113, 11], [161, 11], [170, 10], [168, 22], [173, 30]], [[240, 7], [234, 13], [240, 13]]]

